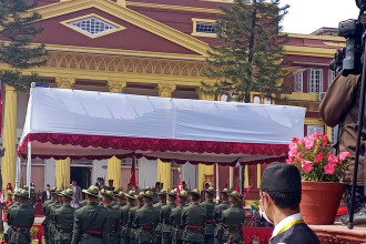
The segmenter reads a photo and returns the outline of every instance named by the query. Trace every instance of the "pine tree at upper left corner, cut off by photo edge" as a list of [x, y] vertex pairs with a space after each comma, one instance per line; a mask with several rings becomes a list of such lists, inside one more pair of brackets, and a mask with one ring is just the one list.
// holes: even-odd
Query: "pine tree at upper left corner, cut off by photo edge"
[[0, 62], [8, 64], [0, 69], [0, 79], [17, 90], [28, 89], [37, 81], [37, 73], [26, 70], [45, 64], [44, 44], [32, 44], [43, 30], [33, 23], [41, 16], [29, 12], [34, 7], [28, 0], [0, 0]]

